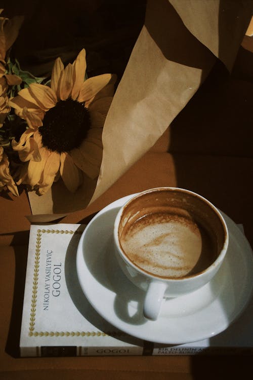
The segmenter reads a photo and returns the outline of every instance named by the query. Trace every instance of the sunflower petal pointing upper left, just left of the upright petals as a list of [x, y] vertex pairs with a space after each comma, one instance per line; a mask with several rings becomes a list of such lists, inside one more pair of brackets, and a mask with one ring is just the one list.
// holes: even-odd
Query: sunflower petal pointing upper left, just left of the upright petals
[[48, 110], [56, 105], [57, 97], [50, 87], [38, 83], [32, 83], [30, 85], [30, 90], [41, 108]]

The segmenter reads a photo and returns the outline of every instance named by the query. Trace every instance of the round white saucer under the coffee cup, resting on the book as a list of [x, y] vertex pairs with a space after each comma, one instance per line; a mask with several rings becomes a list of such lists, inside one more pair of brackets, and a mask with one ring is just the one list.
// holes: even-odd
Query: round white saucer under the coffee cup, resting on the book
[[144, 292], [122, 273], [113, 251], [113, 222], [131, 196], [101, 210], [83, 232], [77, 275], [94, 309], [118, 329], [160, 344], [183, 344], [225, 330], [247, 305], [253, 287], [253, 256], [245, 236], [223, 213], [229, 230], [226, 258], [215, 278], [190, 294], [164, 299], [157, 321], [142, 315]]

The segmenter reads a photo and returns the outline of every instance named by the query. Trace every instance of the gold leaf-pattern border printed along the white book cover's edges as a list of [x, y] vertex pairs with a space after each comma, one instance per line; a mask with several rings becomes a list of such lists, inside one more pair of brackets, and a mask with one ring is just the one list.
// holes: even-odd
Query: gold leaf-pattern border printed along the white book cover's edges
[[38, 229], [35, 245], [34, 267], [33, 267], [33, 282], [32, 282], [32, 295], [31, 295], [31, 309], [28, 336], [124, 336], [126, 335], [120, 331], [34, 331], [35, 318], [36, 318], [36, 304], [37, 304], [37, 288], [38, 288], [38, 274], [39, 274], [39, 259], [40, 259], [40, 246], [42, 234], [82, 234], [83, 231], [72, 230], [49, 230]]

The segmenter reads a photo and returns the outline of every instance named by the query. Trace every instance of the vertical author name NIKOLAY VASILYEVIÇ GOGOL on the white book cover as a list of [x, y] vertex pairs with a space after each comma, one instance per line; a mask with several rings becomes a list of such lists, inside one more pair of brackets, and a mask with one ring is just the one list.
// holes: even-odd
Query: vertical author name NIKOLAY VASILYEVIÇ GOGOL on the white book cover
[[45, 285], [43, 310], [49, 310], [50, 294], [58, 297], [61, 294], [62, 263], [52, 263], [52, 250], [47, 250], [45, 265]]

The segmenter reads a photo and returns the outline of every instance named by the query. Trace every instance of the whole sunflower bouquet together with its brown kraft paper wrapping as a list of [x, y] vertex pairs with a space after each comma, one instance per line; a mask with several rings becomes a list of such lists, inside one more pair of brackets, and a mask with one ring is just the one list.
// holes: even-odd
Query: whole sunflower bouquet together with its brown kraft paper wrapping
[[57, 58], [50, 78], [22, 71], [9, 59], [21, 20], [0, 18], [0, 191], [18, 196], [25, 185], [33, 215], [73, 212], [102, 196], [218, 59], [232, 70], [252, 15], [246, 3], [148, 0], [115, 93], [115, 75], [87, 78], [85, 49], [66, 67]]

